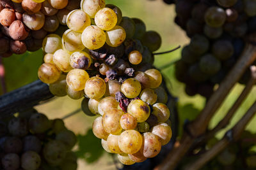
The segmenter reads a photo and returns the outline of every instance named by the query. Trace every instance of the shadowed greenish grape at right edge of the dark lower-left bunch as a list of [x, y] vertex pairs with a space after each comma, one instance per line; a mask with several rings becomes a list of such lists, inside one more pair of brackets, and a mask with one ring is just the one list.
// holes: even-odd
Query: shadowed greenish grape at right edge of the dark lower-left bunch
[[58, 134], [56, 134], [55, 139], [63, 142], [67, 147], [67, 150], [71, 150], [76, 145], [76, 142], [77, 142], [76, 134], [74, 134], [74, 132], [69, 131], [67, 129], [58, 132]]

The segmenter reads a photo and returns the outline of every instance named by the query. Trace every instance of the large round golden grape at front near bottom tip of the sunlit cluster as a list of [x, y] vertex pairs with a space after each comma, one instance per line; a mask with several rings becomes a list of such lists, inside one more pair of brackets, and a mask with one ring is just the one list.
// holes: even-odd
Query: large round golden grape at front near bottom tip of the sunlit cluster
[[136, 153], [142, 145], [142, 136], [135, 130], [126, 130], [120, 134], [118, 146], [124, 153]]

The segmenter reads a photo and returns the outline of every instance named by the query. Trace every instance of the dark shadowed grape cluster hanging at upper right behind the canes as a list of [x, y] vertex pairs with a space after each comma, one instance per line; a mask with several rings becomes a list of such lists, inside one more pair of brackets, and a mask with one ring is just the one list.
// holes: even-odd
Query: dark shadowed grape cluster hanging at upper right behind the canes
[[[256, 30], [254, 0], [180, 0], [175, 22], [191, 38], [175, 65], [177, 80], [189, 96], [205, 97], [225, 78], [243, 52], [246, 36]], [[245, 83], [250, 74], [244, 74]]]

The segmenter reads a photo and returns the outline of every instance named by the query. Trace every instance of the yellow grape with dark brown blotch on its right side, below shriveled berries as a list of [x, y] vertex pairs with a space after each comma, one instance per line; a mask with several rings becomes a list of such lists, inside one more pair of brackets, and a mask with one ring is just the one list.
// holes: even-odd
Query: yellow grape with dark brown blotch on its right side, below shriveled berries
[[150, 108], [147, 103], [137, 99], [128, 105], [127, 113], [135, 117], [137, 122], [145, 122], [150, 115]]

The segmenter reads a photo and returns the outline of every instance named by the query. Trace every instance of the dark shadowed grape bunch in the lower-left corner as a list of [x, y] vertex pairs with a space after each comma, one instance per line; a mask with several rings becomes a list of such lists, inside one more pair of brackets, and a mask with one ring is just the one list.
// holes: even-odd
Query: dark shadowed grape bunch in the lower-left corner
[[0, 169], [76, 170], [71, 151], [76, 135], [63, 120], [49, 120], [36, 110], [22, 111], [0, 122]]

